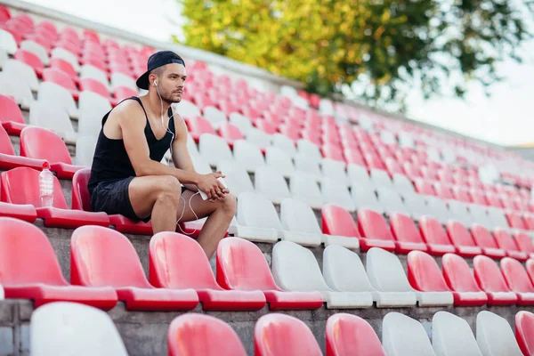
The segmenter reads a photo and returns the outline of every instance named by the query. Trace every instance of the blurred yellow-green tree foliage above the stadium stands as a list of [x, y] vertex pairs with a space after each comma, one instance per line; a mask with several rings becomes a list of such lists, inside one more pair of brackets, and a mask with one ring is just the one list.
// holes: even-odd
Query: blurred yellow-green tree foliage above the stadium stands
[[303, 81], [314, 93], [367, 83], [369, 103], [499, 80], [521, 61], [530, 3], [521, 0], [177, 0], [185, 44]]

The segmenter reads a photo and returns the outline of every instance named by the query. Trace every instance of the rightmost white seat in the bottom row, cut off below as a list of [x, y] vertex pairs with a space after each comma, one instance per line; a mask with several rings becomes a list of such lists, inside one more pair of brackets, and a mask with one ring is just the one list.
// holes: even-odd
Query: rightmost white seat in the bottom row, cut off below
[[436, 312], [432, 325], [432, 344], [437, 356], [482, 356], [467, 321], [449, 312]]

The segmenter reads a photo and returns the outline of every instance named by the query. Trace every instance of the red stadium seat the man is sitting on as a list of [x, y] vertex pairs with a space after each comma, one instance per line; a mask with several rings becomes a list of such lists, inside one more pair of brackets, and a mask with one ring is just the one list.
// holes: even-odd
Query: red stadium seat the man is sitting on
[[[72, 177], [72, 208], [92, 212], [91, 197], [87, 190], [87, 183], [91, 177], [91, 168], [84, 168], [77, 171]], [[121, 215], [109, 215], [109, 223], [115, 225], [115, 230], [123, 233], [133, 233], [139, 235], [152, 235], [152, 224], [143, 222], [134, 222], [131, 219]]]

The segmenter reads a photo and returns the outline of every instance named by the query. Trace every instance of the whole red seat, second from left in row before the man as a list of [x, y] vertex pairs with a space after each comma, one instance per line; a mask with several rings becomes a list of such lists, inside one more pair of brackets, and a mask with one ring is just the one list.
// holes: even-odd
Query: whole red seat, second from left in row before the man
[[81, 286], [113, 287], [128, 310], [191, 310], [198, 304], [192, 289], [150, 286], [130, 240], [101, 226], [84, 226], [73, 232], [70, 281]]

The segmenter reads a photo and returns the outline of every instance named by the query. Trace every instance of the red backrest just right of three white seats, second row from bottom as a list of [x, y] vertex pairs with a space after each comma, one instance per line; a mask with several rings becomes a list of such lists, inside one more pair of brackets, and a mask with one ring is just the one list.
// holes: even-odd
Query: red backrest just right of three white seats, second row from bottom
[[412, 287], [423, 292], [450, 291], [436, 260], [423, 251], [408, 254], [408, 279]]

